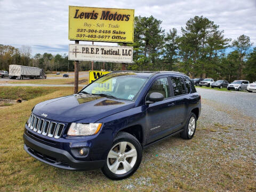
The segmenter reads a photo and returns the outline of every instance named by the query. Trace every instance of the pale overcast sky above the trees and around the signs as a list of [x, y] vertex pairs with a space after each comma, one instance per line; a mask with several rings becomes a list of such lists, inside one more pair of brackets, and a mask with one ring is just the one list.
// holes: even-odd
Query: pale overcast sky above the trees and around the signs
[[174, 27], [179, 34], [187, 20], [203, 15], [219, 25], [226, 38], [245, 34], [256, 44], [256, 0], [0, 0], [0, 44], [30, 45], [33, 55], [67, 53], [68, 44], [74, 43], [68, 40], [68, 5], [135, 9], [135, 16], [153, 15], [163, 21], [165, 31]]

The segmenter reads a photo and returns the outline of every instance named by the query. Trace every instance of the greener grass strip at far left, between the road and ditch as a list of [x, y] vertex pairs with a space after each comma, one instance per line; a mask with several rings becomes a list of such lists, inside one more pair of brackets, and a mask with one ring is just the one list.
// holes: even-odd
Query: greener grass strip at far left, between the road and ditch
[[63, 87], [0, 86], [0, 98], [30, 100], [62, 89]]

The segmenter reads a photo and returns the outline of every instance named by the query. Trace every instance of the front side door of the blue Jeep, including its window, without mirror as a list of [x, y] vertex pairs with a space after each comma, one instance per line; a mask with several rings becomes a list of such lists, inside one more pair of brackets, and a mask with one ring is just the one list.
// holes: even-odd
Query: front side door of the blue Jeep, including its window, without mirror
[[171, 134], [175, 126], [175, 98], [172, 97], [173, 95], [170, 92], [170, 79], [168, 76], [159, 76], [154, 80], [147, 91], [145, 101], [148, 100], [149, 94], [152, 92], [163, 94], [164, 100], [146, 105], [147, 143]]

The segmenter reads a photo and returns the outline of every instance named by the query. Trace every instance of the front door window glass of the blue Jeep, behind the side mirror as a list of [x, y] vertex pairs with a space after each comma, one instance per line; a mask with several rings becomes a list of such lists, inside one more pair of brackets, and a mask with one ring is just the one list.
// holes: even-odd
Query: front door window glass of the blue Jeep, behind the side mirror
[[148, 93], [158, 92], [164, 95], [164, 98], [170, 97], [170, 89], [167, 77], [157, 79], [153, 85], [151, 85]]

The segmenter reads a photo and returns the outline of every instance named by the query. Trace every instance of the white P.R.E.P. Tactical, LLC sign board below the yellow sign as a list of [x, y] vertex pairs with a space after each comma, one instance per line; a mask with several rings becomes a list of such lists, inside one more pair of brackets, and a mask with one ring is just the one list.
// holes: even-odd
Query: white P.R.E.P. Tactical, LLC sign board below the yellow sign
[[131, 63], [133, 47], [69, 44], [68, 59]]

